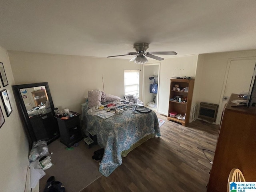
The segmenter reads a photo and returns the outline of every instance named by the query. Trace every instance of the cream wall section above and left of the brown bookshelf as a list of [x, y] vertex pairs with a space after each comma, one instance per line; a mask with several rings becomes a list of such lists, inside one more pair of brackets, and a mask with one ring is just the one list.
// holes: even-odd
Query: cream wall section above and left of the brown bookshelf
[[174, 76], [196, 75], [198, 55], [168, 58], [160, 64], [158, 112], [168, 115], [170, 78]]

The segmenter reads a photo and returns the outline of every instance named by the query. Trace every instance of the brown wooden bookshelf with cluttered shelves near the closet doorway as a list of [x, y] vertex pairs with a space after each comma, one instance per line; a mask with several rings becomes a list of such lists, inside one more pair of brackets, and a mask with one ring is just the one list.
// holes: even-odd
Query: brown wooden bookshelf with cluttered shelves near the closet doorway
[[[168, 121], [174, 121], [186, 126], [189, 123], [190, 118], [190, 110], [192, 103], [192, 95], [194, 88], [194, 79], [170, 79], [170, 97], [169, 97], [169, 109], [168, 109]], [[174, 85], [178, 84], [181, 91], [173, 90]], [[188, 92], [182, 91], [183, 88], [188, 87]], [[187, 102], [184, 103], [184, 99], [182, 102], [171, 101], [171, 98], [175, 96], [180, 96], [181, 98], [187, 98]], [[178, 114], [185, 115], [185, 120], [179, 120], [176, 117], [170, 117], [171, 112], [177, 112]]]

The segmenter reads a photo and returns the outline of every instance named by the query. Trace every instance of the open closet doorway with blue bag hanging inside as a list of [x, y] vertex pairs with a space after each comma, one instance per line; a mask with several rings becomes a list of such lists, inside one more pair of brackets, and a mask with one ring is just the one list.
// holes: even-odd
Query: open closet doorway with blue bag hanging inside
[[142, 102], [151, 110], [158, 111], [160, 63], [143, 65]]

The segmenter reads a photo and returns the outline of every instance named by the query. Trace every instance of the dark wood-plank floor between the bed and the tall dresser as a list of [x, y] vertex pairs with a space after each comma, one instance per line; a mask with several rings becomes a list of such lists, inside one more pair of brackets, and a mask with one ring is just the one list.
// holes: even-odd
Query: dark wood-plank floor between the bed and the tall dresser
[[[132, 150], [114, 172], [81, 192], [206, 192], [219, 126], [196, 120], [181, 126], [166, 120], [161, 137]], [[206, 156], [204, 155], [204, 150]]]

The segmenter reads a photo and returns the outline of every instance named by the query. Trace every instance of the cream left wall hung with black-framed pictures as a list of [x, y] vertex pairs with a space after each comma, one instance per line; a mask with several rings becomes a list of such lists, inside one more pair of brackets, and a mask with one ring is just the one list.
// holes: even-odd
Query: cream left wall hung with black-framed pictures
[[26, 184], [26, 172], [28, 167], [28, 141], [18, 115], [14, 100], [12, 85], [14, 78], [7, 52], [0, 47], [0, 62], [4, 64], [9, 85], [2, 86], [6, 89], [12, 106], [12, 113], [6, 116], [4, 105], [0, 101], [5, 122], [0, 128], [0, 191], [22, 192]]

